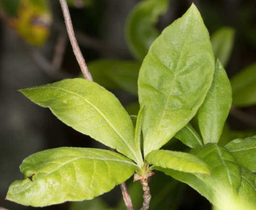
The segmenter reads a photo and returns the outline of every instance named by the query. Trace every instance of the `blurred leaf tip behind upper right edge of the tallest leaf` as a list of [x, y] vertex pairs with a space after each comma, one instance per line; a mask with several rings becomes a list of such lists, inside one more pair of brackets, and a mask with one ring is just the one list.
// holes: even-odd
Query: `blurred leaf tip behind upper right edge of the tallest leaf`
[[215, 58], [219, 59], [225, 67], [232, 53], [234, 45], [234, 29], [223, 27], [211, 35], [211, 45]]

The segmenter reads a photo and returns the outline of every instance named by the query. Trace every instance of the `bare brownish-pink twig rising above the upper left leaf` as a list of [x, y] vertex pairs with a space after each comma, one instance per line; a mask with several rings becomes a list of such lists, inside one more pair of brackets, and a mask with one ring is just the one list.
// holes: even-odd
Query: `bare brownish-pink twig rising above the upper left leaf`
[[67, 4], [66, 0], [60, 0], [60, 5], [62, 8], [62, 12], [63, 12], [65, 24], [66, 24], [66, 29], [68, 31], [68, 37], [70, 37], [70, 43], [72, 45], [72, 48], [73, 48], [73, 51], [75, 54], [75, 58], [81, 68], [81, 72], [83, 73], [83, 75], [86, 79], [88, 79], [89, 81], [93, 81], [93, 77], [91, 76], [91, 74], [87, 68], [85, 59], [83, 58], [83, 54], [81, 53], [81, 50], [79, 49], [79, 46], [77, 43], [77, 40], [75, 39], [74, 28], [72, 25], [70, 11], [68, 10], [68, 4]]

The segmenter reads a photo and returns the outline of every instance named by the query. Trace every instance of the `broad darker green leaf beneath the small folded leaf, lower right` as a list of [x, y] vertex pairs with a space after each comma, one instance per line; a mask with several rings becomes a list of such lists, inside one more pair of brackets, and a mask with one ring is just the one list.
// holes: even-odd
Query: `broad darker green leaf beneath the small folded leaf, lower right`
[[206, 144], [202, 148], [192, 150], [191, 154], [203, 159], [208, 165], [211, 175], [182, 173], [162, 167], [155, 169], [190, 185], [213, 204], [215, 204], [215, 198], [219, 196], [220, 187], [227, 192], [238, 193], [242, 179], [240, 167], [228, 150], [217, 146], [217, 144]]

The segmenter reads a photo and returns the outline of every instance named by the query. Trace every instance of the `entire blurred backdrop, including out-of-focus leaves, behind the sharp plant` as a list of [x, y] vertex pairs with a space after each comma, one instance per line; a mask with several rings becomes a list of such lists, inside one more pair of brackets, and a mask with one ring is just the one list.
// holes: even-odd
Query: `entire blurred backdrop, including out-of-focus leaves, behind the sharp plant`
[[[68, 1], [77, 40], [89, 68], [93, 70], [95, 81], [113, 91], [122, 104], [128, 106], [129, 112], [135, 115], [137, 114], [136, 77], [143, 51], [142, 55], [136, 53], [136, 49], [133, 49], [129, 41], [127, 18], [129, 14], [131, 17], [130, 12], [140, 2], [137, 0]], [[210, 35], [215, 34], [217, 41], [222, 40], [223, 37], [218, 38], [215, 31], [223, 27], [228, 27], [232, 31], [232, 38], [228, 38], [232, 46], [225, 58], [228, 76], [232, 78], [247, 66], [255, 64], [256, 1], [193, 2], [200, 10]], [[159, 12], [162, 13], [160, 16], [157, 14], [154, 20], [150, 20], [154, 30], [144, 33], [149, 43], [154, 33], [157, 35], [158, 31], [184, 14], [192, 1], [169, 0], [168, 3], [168, 7]], [[11, 182], [22, 179], [18, 169], [22, 159], [47, 148], [59, 146], [102, 148], [102, 145], [64, 125], [49, 110], [32, 104], [17, 91], [79, 76], [79, 66], [66, 35], [59, 2], [1, 0], [0, 7], [0, 206], [10, 210], [36, 209], [5, 201]], [[145, 21], [145, 24], [148, 24], [148, 20]], [[138, 23], [140, 23], [139, 19]], [[143, 22], [139, 28], [142, 26], [144, 26]], [[228, 41], [221, 43], [221, 46]], [[98, 62], [99, 59], [104, 60]], [[256, 66], [251, 67], [250, 71], [252, 73], [248, 75], [256, 75]], [[254, 81], [256, 84], [256, 79]], [[236, 83], [241, 81], [234, 81], [234, 86]], [[249, 98], [256, 97], [256, 92], [252, 91], [255, 87], [256, 85], [248, 87]], [[252, 100], [243, 104], [245, 99], [235, 96], [236, 104], [228, 117], [223, 141], [256, 133], [256, 102]], [[186, 150], [179, 142], [167, 146]], [[131, 194], [135, 197], [135, 207], [138, 209], [142, 203], [140, 185], [133, 184], [132, 180], [129, 180], [130, 183]], [[161, 173], [156, 173], [150, 185], [153, 197], [152, 209], [211, 209], [210, 203], [197, 192]], [[64, 203], [41, 209], [123, 209], [119, 205], [120, 202], [122, 202], [121, 192], [117, 186], [112, 192], [100, 196], [95, 201]]]

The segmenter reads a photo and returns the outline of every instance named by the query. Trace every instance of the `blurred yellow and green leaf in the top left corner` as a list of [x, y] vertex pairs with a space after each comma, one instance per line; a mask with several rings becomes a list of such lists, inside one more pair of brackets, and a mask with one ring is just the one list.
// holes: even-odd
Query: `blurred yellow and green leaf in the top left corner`
[[[1, 4], [7, 14], [7, 22], [26, 42], [41, 46], [47, 40], [52, 14], [47, 0], [5, 0]], [[9, 16], [11, 14], [11, 16]]]

